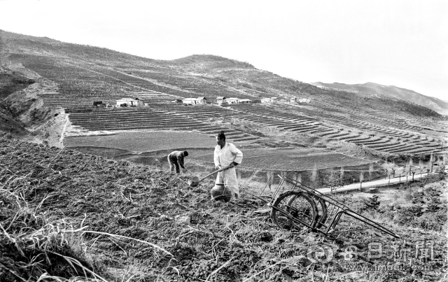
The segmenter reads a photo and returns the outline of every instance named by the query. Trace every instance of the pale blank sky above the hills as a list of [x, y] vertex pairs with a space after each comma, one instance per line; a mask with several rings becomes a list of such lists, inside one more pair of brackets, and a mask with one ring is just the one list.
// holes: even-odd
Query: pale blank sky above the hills
[[0, 29], [153, 59], [212, 54], [307, 83], [448, 100], [448, 1], [0, 0]]

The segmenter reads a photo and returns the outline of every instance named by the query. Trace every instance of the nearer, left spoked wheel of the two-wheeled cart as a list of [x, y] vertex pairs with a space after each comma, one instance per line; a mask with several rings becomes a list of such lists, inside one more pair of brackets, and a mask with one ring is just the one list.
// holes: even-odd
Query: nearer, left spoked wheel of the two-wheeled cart
[[271, 217], [281, 229], [303, 232], [316, 225], [318, 211], [313, 199], [307, 193], [288, 191], [281, 193], [275, 200]]

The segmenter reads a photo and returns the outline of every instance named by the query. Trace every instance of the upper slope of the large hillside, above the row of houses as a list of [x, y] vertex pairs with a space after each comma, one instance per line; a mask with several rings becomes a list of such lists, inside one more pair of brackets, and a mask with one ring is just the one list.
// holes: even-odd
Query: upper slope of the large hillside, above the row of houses
[[[323, 101], [332, 99], [332, 103], [343, 108], [348, 106], [347, 100], [351, 101], [351, 107], [366, 106], [363, 96], [321, 90], [307, 83], [255, 69], [248, 63], [213, 55], [192, 55], [161, 61], [8, 31], [0, 31], [0, 38], [3, 64], [18, 72], [29, 69], [55, 81], [59, 85], [59, 94], [100, 94], [107, 97], [143, 90], [172, 95], [167, 99], [204, 94], [211, 98], [313, 97]], [[49, 73], [50, 69], [54, 72]], [[85, 80], [85, 74], [100, 79], [101, 83]], [[115, 80], [111, 80], [111, 76]], [[67, 77], [73, 79], [69, 81]], [[134, 84], [123, 83], [127, 80], [132, 80]], [[116, 83], [120, 85], [114, 85]], [[372, 97], [368, 105], [370, 108], [404, 108], [403, 103]], [[409, 106], [418, 110], [418, 106]], [[422, 114], [436, 115], [430, 112]]]

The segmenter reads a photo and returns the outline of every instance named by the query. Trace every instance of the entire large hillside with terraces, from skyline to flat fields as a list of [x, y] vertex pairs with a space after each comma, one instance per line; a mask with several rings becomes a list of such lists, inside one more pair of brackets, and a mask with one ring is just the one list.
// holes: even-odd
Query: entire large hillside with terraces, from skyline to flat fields
[[[22, 122], [32, 139], [55, 146], [64, 146], [66, 132], [161, 129], [209, 135], [224, 130], [232, 142], [291, 141], [384, 159], [428, 157], [446, 143], [447, 124], [429, 108], [384, 95], [323, 89], [247, 62], [216, 55], [155, 60], [8, 31], [0, 31], [0, 39], [0, 76], [13, 83], [2, 88], [4, 112]], [[148, 106], [92, 108], [93, 101], [111, 106], [123, 97]], [[186, 97], [206, 97], [208, 104], [172, 103]], [[218, 106], [216, 97], [277, 97], [279, 102]], [[291, 98], [311, 102], [291, 104]]]

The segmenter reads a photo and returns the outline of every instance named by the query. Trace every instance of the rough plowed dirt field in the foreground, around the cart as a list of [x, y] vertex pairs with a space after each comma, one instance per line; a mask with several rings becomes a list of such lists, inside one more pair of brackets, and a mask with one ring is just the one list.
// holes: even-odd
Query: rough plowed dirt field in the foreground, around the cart
[[[241, 199], [225, 204], [211, 201], [211, 181], [189, 188], [187, 179], [74, 150], [0, 139], [0, 281], [36, 281], [44, 273], [65, 279], [84, 276], [82, 271], [67, 270], [67, 259], [55, 255], [59, 249], [65, 258], [85, 258], [83, 265], [107, 281], [439, 281], [446, 277], [446, 223], [440, 225], [442, 231], [414, 225], [412, 215], [401, 223], [395, 220], [399, 210], [381, 204], [365, 206], [349, 195], [340, 200], [402, 239], [374, 230], [332, 237], [293, 234], [254, 213], [262, 204], [249, 195], [248, 187], [241, 187]], [[446, 213], [446, 208], [438, 212]], [[30, 216], [26, 220], [18, 216], [23, 213]], [[27, 231], [24, 225], [28, 229], [52, 226], [55, 234], [66, 236], [53, 245], [49, 242], [54, 237], [37, 233], [26, 241], [19, 236]], [[21, 244], [23, 240], [27, 244]], [[378, 246], [388, 253], [378, 255]], [[422, 257], [421, 248], [432, 253]], [[400, 256], [403, 250], [406, 258]], [[389, 267], [375, 271], [375, 266]]]

